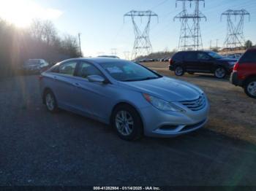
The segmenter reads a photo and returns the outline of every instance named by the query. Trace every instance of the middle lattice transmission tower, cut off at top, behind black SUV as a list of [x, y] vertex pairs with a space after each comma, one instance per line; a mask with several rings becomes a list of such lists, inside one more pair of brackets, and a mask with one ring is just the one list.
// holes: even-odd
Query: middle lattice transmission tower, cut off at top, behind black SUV
[[[179, 19], [181, 21], [181, 34], [178, 42], [178, 50], [200, 50], [203, 49], [202, 36], [200, 31], [200, 20], [205, 19], [206, 16], [200, 12], [200, 1], [204, 0], [176, 0], [182, 1], [182, 11], [174, 17], [174, 20]], [[187, 11], [187, 2], [190, 7], [192, 3], [195, 3], [195, 11], [189, 13]]]

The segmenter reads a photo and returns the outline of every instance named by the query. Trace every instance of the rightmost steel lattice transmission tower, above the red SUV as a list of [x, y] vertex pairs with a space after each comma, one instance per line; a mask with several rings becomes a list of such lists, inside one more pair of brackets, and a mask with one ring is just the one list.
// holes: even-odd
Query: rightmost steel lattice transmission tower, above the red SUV
[[[244, 46], [244, 17], [250, 17], [249, 12], [245, 9], [241, 10], [232, 10], [228, 9], [223, 12], [222, 17], [227, 17], [227, 36], [224, 42], [224, 47], [233, 49], [235, 47], [243, 47]], [[235, 23], [237, 17], [238, 23]]]

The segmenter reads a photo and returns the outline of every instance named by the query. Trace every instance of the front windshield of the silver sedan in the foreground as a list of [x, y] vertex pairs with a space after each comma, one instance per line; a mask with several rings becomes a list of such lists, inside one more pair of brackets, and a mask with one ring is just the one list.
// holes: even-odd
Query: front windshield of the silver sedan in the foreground
[[130, 61], [102, 63], [101, 66], [111, 77], [122, 82], [142, 81], [162, 77], [159, 74]]

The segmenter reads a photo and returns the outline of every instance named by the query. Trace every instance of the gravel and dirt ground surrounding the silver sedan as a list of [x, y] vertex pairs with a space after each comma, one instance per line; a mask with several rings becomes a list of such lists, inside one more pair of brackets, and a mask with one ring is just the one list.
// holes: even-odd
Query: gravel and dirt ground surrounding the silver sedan
[[48, 113], [36, 76], [1, 80], [0, 185], [256, 185], [256, 101], [227, 80], [181, 79], [208, 94], [206, 128], [134, 142], [77, 114]]

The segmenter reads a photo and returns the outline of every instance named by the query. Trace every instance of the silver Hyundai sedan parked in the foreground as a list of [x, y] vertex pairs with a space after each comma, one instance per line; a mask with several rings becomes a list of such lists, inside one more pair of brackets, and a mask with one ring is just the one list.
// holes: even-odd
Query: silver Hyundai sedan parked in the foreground
[[209, 104], [199, 87], [113, 58], [76, 58], [39, 77], [50, 112], [76, 112], [113, 126], [121, 139], [172, 137], [202, 128]]

